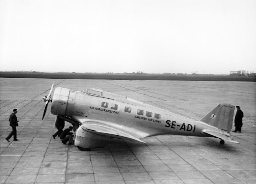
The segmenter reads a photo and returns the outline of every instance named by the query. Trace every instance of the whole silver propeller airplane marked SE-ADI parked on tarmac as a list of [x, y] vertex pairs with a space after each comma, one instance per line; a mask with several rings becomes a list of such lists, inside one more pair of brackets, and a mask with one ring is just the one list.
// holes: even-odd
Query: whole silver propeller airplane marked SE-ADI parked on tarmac
[[214, 137], [232, 143], [230, 138], [234, 106], [220, 103], [199, 121], [195, 121], [165, 109], [110, 93], [89, 88], [73, 91], [57, 87], [43, 97], [45, 116], [51, 102], [51, 114], [57, 121], [72, 124], [74, 145], [81, 151], [104, 148], [112, 139], [132, 140], [145, 143], [142, 138], [157, 135], [181, 135]]

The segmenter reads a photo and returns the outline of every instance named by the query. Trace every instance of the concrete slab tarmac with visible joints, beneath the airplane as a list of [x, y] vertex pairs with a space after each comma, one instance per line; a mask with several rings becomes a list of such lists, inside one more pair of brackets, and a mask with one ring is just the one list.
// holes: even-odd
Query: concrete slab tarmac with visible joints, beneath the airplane
[[[114, 140], [103, 149], [79, 151], [51, 137], [56, 131], [51, 103], [41, 120], [42, 96], [53, 80], [53, 91], [98, 88], [195, 120], [219, 103], [239, 105], [244, 113], [242, 131], [231, 132], [231, 137], [240, 144], [164, 135], [142, 139], [145, 144]], [[255, 84], [0, 78], [0, 184], [255, 184]], [[9, 143], [5, 138], [14, 108], [19, 141], [11, 138]]]

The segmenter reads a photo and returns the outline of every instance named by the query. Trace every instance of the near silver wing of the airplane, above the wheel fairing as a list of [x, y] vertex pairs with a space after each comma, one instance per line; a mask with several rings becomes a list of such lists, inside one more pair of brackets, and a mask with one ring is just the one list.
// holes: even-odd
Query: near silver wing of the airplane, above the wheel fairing
[[120, 131], [116, 128], [113, 128], [109, 125], [93, 124], [93, 122], [91, 123], [86, 122], [86, 124], [83, 124], [81, 128], [82, 130], [93, 133], [93, 134], [108, 136], [108, 137], [117, 138], [117, 139], [135, 140], [141, 143], [145, 143], [144, 141], [141, 141], [140, 139], [132, 135], [129, 135], [123, 131]]

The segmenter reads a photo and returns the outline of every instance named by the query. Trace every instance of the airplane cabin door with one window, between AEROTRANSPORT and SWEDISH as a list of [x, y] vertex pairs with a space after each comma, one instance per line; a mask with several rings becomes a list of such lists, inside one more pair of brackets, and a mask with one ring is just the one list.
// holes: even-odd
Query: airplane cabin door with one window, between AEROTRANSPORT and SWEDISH
[[121, 103], [118, 114], [117, 123], [131, 127], [134, 122], [136, 106], [131, 104]]

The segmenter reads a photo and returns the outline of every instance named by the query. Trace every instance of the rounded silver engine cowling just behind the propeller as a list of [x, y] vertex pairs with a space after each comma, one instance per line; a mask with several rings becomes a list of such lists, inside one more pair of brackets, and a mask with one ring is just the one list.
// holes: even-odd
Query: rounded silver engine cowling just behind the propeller
[[65, 115], [70, 89], [56, 88], [52, 97], [50, 112], [54, 115]]

